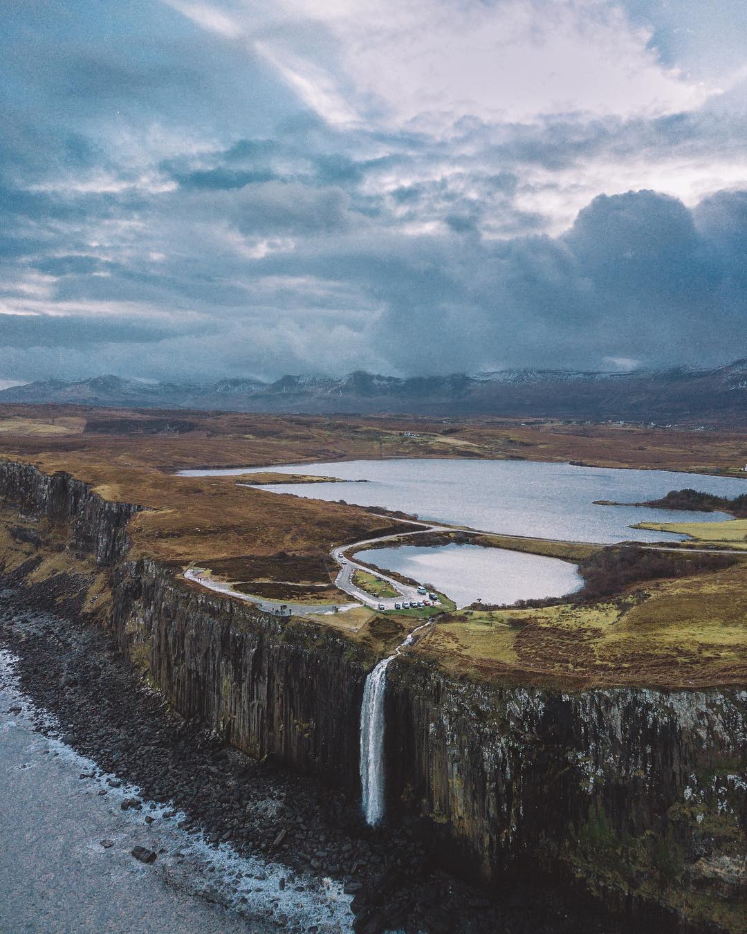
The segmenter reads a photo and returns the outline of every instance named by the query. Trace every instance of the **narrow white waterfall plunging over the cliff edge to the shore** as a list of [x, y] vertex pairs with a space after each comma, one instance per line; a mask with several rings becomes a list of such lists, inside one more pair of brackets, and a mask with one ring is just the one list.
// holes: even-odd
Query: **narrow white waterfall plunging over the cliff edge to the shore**
[[387, 689], [387, 669], [390, 661], [402, 654], [402, 649], [417, 642], [416, 634], [430, 626], [423, 623], [413, 630], [394, 654], [373, 668], [363, 686], [360, 704], [360, 797], [366, 823], [375, 827], [384, 816], [384, 696]]

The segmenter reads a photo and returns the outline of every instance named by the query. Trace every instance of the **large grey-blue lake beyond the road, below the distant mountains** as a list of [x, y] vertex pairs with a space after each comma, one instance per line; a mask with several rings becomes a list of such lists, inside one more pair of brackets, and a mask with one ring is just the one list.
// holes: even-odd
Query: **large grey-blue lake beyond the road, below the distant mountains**
[[[529, 460], [349, 460], [344, 463], [261, 467], [257, 473], [315, 474], [339, 483], [269, 486], [276, 493], [317, 500], [346, 500], [415, 513], [483, 531], [610, 544], [655, 542], [681, 536], [630, 529], [636, 522], [688, 522], [729, 518], [720, 513], [672, 512], [636, 506], [595, 506], [595, 500], [641, 502], [670, 489], [696, 488], [719, 496], [747, 491], [738, 478], [670, 471], [612, 470]], [[183, 471], [183, 475], [239, 475], [251, 470]]]

